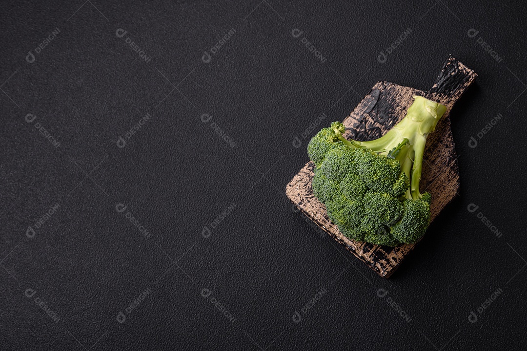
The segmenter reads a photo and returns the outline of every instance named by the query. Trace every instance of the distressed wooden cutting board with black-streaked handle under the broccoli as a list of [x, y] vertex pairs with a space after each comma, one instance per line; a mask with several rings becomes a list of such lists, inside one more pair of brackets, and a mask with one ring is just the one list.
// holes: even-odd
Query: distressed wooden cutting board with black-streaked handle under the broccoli
[[[450, 111], [476, 74], [452, 55], [446, 60], [434, 86], [428, 91], [380, 81], [374, 85], [355, 110], [344, 120], [345, 137], [359, 141], [374, 140], [384, 135], [405, 115], [414, 99], [421, 95], [446, 106], [436, 130], [426, 141], [423, 175], [419, 190], [432, 194], [431, 221], [454, 199], [459, 188], [457, 157], [450, 129]], [[307, 150], [306, 150], [307, 153]], [[311, 180], [315, 164], [309, 161], [287, 184], [286, 193], [296, 207], [337, 242], [370, 266], [380, 276], [389, 277], [416, 244], [396, 247], [357, 242], [346, 238], [329, 220], [324, 204], [313, 195]], [[426, 234], [425, 234], [426, 235]]]

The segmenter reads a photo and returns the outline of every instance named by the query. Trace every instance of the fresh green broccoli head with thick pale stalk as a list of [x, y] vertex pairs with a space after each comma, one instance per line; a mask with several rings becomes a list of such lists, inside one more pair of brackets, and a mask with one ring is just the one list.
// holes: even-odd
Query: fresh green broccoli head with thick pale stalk
[[446, 107], [414, 96], [406, 117], [372, 141], [344, 138], [333, 122], [307, 146], [313, 193], [347, 238], [378, 245], [415, 243], [430, 223], [430, 193], [419, 192], [426, 137]]

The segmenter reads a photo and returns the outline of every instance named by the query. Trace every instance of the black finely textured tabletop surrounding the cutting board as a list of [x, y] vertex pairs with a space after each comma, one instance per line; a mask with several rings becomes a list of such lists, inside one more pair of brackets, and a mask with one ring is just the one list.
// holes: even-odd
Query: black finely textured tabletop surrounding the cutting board
[[[3, 2], [0, 349], [524, 349], [520, 4]], [[479, 75], [451, 114], [460, 197], [386, 281], [284, 187], [322, 113], [379, 80], [426, 90], [448, 54]]]

